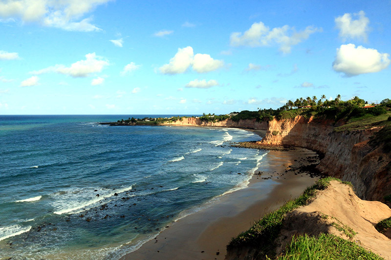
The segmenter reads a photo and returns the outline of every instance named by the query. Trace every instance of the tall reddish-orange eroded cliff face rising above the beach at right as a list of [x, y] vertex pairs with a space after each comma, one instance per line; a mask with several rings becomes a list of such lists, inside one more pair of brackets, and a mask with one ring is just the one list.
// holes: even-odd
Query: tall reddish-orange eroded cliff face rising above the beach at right
[[345, 132], [334, 132], [333, 129], [332, 121], [302, 116], [271, 120], [261, 142], [300, 146], [323, 153], [318, 169], [350, 181], [361, 199], [381, 200], [391, 194], [391, 173], [387, 170], [391, 156], [368, 143], [380, 128]]

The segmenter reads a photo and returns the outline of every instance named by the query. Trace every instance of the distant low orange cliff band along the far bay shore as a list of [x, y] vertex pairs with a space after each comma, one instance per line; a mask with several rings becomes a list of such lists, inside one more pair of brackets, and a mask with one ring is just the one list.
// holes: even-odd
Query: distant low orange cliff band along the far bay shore
[[266, 121], [257, 122], [257, 120], [239, 120], [235, 122], [231, 119], [222, 120], [218, 122], [206, 122], [201, 121], [198, 118], [183, 118], [175, 122], [169, 123], [169, 125], [192, 125], [192, 126], [219, 126], [219, 127], [243, 127], [251, 129], [267, 130], [268, 123]]

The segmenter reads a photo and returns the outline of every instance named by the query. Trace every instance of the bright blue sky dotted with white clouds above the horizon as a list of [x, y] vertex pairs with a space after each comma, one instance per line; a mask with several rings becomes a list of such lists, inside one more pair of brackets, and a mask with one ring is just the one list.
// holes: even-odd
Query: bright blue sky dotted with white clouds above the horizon
[[391, 1], [0, 0], [0, 114], [391, 98]]

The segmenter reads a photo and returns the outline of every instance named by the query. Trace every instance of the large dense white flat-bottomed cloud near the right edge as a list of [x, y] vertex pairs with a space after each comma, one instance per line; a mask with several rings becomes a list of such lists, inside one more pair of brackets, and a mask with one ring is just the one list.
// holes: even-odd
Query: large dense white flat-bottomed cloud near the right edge
[[390, 54], [354, 44], [341, 45], [333, 62], [333, 69], [346, 77], [379, 72], [390, 65]]

